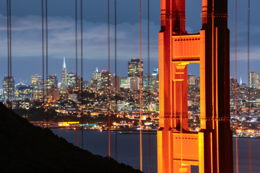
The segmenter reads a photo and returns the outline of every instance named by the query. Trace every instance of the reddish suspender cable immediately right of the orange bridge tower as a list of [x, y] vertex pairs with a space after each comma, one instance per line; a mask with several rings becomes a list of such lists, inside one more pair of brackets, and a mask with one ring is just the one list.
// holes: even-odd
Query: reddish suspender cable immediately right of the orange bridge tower
[[[235, 0], [235, 79], [237, 81], [237, 0]], [[236, 156], [236, 173], [238, 173], [238, 144], [237, 144], [237, 83], [235, 83], [235, 156]]]

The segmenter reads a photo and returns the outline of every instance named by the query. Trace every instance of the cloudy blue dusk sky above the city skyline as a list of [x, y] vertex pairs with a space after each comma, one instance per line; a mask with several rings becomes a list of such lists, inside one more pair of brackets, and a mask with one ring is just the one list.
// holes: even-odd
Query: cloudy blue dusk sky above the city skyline
[[[42, 76], [41, 0], [12, 0], [12, 75], [15, 83]], [[45, 1], [44, 1], [45, 2]], [[78, 75], [81, 76], [80, 1], [77, 7]], [[160, 2], [150, 0], [150, 69], [158, 68], [158, 32], [161, 22]], [[237, 15], [237, 78], [247, 83], [247, 12], [248, 1], [238, 0]], [[260, 72], [260, 1], [250, 1], [250, 71]], [[197, 33], [202, 27], [202, 1], [186, 0], [186, 31]], [[230, 76], [234, 77], [235, 0], [229, 0]], [[147, 73], [147, 0], [142, 0], [142, 60]], [[83, 66], [84, 80], [91, 73], [108, 70], [107, 0], [83, 0]], [[67, 72], [75, 72], [75, 1], [48, 1], [48, 68], [49, 75], [61, 81], [63, 56]], [[110, 64], [114, 73], [114, 1], [110, 0]], [[127, 76], [127, 62], [139, 58], [139, 1], [117, 1], [117, 73]], [[7, 75], [7, 12], [6, 1], [0, 2], [0, 89]], [[199, 65], [188, 66], [188, 73], [199, 76]], [[46, 74], [45, 74], [46, 75]], [[45, 77], [46, 78], [46, 77]], [[28, 82], [27, 84], [30, 84]]]

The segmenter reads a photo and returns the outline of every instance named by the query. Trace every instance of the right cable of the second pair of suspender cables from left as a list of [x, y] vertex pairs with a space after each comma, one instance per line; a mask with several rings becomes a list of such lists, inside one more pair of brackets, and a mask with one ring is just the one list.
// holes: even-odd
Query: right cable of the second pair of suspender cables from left
[[[45, 32], [46, 32], [46, 100], [47, 100], [47, 105], [48, 105], [48, 9], [47, 9], [47, 2], [48, 0], [46, 0], [46, 7], [45, 7]], [[47, 111], [46, 111], [46, 121], [47, 121], [47, 128], [48, 128], [48, 106], [46, 107]]]

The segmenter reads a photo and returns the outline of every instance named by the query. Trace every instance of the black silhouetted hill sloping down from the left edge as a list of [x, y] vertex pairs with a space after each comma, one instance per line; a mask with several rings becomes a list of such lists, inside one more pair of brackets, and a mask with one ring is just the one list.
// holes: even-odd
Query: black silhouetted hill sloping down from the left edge
[[33, 126], [0, 102], [0, 172], [141, 172]]

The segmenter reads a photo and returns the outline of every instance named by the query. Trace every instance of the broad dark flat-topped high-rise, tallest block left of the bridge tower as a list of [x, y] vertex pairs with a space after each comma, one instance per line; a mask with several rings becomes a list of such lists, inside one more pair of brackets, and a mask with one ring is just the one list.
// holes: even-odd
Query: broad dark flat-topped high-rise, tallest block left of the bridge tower
[[143, 61], [140, 61], [139, 59], [131, 59], [131, 61], [128, 61], [128, 77], [136, 76], [139, 77], [140, 74], [140, 66], [141, 66], [141, 77], [143, 78], [143, 71], [144, 71], [144, 64]]

